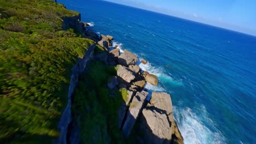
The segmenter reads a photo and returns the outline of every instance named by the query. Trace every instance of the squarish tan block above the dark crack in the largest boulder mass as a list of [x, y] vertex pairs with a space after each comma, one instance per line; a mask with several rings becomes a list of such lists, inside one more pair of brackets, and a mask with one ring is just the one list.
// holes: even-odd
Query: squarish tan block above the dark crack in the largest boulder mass
[[172, 113], [172, 100], [170, 94], [153, 92], [150, 104], [154, 105], [157, 109], [165, 110], [167, 115]]

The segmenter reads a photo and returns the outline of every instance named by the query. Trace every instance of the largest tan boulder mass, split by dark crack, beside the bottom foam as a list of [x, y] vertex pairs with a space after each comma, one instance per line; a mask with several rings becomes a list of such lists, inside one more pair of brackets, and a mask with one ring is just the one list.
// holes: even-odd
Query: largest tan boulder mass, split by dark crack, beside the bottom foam
[[140, 117], [141, 137], [145, 143], [183, 143], [183, 137], [174, 122], [171, 96], [153, 92], [150, 103]]

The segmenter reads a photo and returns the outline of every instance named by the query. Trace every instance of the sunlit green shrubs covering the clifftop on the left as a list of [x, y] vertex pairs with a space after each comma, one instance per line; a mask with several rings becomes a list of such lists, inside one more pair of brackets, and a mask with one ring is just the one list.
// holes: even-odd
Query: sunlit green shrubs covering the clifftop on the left
[[76, 15], [50, 0], [0, 1], [0, 143], [59, 136], [71, 68], [94, 43], [62, 31], [62, 17]]

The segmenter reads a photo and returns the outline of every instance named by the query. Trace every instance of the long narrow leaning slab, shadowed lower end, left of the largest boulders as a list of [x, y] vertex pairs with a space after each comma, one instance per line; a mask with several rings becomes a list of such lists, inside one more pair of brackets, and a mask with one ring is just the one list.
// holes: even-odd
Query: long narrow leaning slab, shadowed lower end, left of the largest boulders
[[129, 111], [127, 112], [127, 118], [125, 120], [123, 129], [122, 129], [124, 136], [128, 137], [130, 135], [133, 125], [135, 124], [136, 119], [139, 113], [141, 112], [141, 109], [143, 107], [143, 104], [147, 95], [148, 95], [148, 92], [142, 91], [142, 92], [137, 92], [136, 95], [132, 98]]

